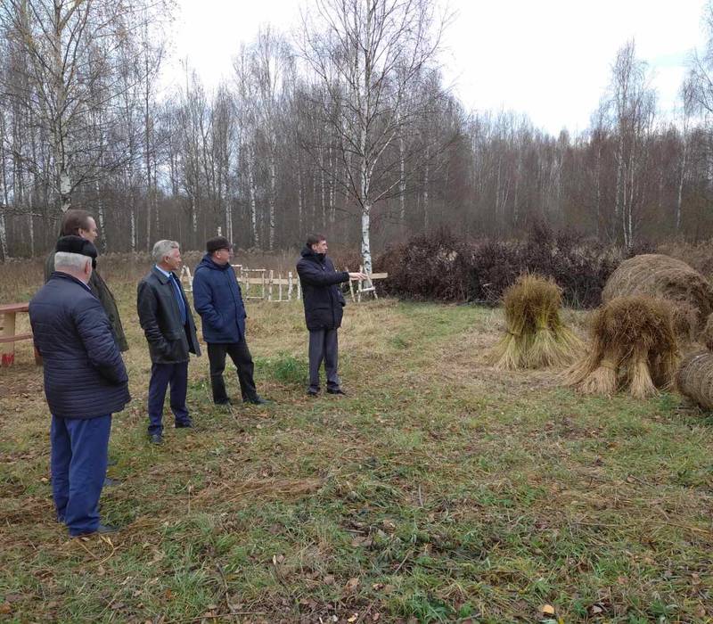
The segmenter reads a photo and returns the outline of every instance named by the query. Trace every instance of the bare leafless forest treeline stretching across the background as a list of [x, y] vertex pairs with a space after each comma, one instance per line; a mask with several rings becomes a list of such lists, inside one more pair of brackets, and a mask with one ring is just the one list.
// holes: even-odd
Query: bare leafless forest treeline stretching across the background
[[199, 249], [218, 228], [278, 250], [320, 231], [367, 267], [372, 244], [442, 226], [504, 240], [537, 221], [624, 248], [713, 236], [713, 46], [672, 118], [624, 43], [586, 131], [553, 136], [448, 92], [429, 0], [307, 9], [299, 36], [264, 27], [236, 49], [214, 91], [189, 67], [166, 91], [169, 0], [5, 0], [0, 259], [45, 253], [70, 206], [97, 216], [104, 250]]

